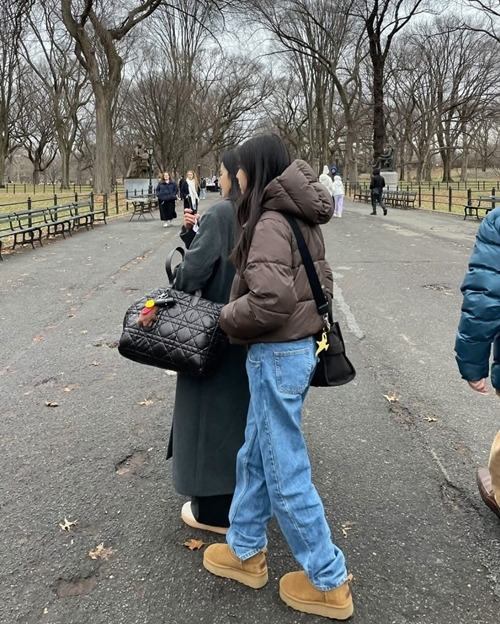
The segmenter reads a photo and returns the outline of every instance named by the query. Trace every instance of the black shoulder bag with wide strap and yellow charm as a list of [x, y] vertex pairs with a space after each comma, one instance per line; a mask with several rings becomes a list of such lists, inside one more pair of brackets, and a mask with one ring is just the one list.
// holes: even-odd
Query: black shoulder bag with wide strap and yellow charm
[[300, 231], [297, 221], [290, 215], [283, 215], [292, 228], [297, 246], [302, 256], [302, 262], [309, 278], [311, 290], [318, 308], [318, 314], [325, 323], [323, 330], [316, 335], [318, 350], [316, 356], [318, 365], [314, 371], [311, 386], [342, 386], [349, 383], [356, 376], [354, 366], [345, 354], [345, 344], [338, 322], [333, 321], [326, 298], [314, 268], [309, 249]]

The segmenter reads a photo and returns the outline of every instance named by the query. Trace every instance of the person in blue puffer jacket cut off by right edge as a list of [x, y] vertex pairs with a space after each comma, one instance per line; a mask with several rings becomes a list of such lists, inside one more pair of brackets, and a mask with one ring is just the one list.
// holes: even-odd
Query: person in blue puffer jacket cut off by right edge
[[[462, 284], [462, 314], [455, 341], [458, 369], [476, 392], [486, 394], [486, 378], [500, 397], [500, 208], [483, 219]], [[477, 484], [486, 505], [500, 518], [500, 431], [488, 468], [478, 468]]]

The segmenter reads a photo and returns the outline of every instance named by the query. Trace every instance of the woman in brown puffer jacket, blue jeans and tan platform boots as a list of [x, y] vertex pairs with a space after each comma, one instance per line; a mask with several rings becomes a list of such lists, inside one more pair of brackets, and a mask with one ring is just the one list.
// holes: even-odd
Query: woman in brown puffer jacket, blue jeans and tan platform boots
[[332, 542], [301, 431], [302, 405], [316, 368], [314, 335], [323, 327], [284, 214], [296, 218], [320, 282], [332, 294], [320, 224], [332, 198], [302, 160], [290, 162], [275, 135], [238, 149], [240, 236], [236, 276], [221, 327], [249, 345], [245, 443], [238, 453], [227, 544], [212, 544], [203, 565], [254, 589], [268, 580], [267, 524], [274, 514], [303, 568], [285, 574], [280, 597], [290, 607], [336, 619], [353, 613], [344, 555]]

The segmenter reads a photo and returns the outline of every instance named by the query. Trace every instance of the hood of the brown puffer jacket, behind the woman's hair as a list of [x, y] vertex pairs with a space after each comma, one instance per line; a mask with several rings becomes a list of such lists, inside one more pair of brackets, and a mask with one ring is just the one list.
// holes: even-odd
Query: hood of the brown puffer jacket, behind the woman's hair
[[262, 205], [265, 210], [286, 212], [317, 225], [327, 223], [333, 214], [332, 196], [304, 160], [294, 160], [271, 180], [264, 189]]

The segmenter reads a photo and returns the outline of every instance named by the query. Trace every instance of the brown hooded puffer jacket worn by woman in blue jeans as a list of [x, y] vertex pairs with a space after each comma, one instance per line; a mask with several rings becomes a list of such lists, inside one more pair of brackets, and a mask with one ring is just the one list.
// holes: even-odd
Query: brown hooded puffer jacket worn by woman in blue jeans
[[289, 342], [323, 327], [302, 264], [295, 235], [283, 213], [297, 219], [326, 293], [332, 272], [325, 260], [319, 224], [327, 223], [333, 201], [311, 167], [295, 160], [264, 191], [262, 214], [252, 238], [247, 265], [236, 274], [221, 326], [238, 342]]

